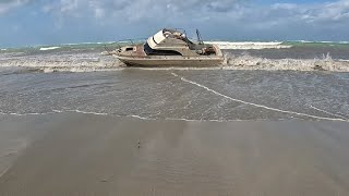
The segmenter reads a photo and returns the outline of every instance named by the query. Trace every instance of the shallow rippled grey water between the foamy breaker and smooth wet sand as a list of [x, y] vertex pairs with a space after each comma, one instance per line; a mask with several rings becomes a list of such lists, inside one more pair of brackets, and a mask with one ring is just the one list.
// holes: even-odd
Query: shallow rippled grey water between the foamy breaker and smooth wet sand
[[0, 73], [2, 113], [83, 111], [143, 119], [349, 119], [348, 73], [124, 69]]

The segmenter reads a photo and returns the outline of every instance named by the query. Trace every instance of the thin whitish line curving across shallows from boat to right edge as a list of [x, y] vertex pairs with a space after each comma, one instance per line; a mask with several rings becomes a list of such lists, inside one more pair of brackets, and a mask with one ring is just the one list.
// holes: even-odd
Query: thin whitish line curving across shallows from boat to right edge
[[281, 110], [281, 109], [277, 109], [277, 108], [272, 108], [272, 107], [267, 107], [267, 106], [263, 106], [263, 105], [257, 105], [257, 103], [254, 103], [254, 102], [248, 102], [248, 101], [244, 101], [244, 100], [240, 100], [240, 99], [236, 99], [236, 98], [232, 98], [232, 97], [229, 97], [227, 95], [224, 95], [224, 94], [220, 94], [214, 89], [210, 89], [208, 88], [207, 86], [204, 86], [202, 84], [198, 84], [194, 81], [190, 81], [190, 79], [186, 79], [185, 77], [182, 77], [182, 76], [179, 76], [178, 74], [176, 73], [171, 73], [174, 77], [180, 77], [181, 81], [185, 82], [185, 83], [190, 83], [192, 85], [195, 85], [195, 86], [198, 86], [207, 91], [210, 91], [215, 95], [218, 95], [220, 97], [224, 97], [226, 99], [229, 99], [229, 100], [232, 100], [232, 101], [236, 101], [236, 102], [241, 102], [241, 103], [244, 103], [244, 105], [249, 105], [249, 106], [253, 106], [253, 107], [257, 107], [257, 108], [263, 108], [263, 109], [267, 109], [267, 110], [270, 110], [270, 111], [276, 111], [276, 112], [281, 112], [281, 113], [289, 113], [289, 114], [294, 114], [294, 115], [300, 115], [300, 117], [308, 117], [308, 118], [312, 118], [312, 119], [317, 119], [317, 120], [329, 120], [329, 121], [344, 121], [344, 122], [349, 122], [348, 119], [346, 118], [340, 118], [340, 119], [333, 119], [333, 118], [324, 118], [324, 117], [317, 117], [317, 115], [312, 115], [312, 114], [306, 114], [306, 113], [299, 113], [299, 112], [294, 112], [294, 111], [288, 111], [288, 110]]

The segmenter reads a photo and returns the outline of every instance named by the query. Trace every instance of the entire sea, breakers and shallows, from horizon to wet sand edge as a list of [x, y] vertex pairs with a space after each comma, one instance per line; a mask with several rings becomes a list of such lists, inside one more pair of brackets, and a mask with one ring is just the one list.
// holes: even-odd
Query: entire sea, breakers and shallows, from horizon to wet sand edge
[[[233, 66], [208, 69], [131, 69], [113, 57], [100, 54], [106, 47], [119, 45], [76, 44], [1, 51], [0, 111], [23, 114], [79, 110], [146, 119], [215, 121], [316, 120], [317, 114], [320, 120], [347, 120], [349, 115], [347, 72], [282, 71], [284, 68], [314, 71], [313, 66], [321, 61], [309, 59], [321, 56], [325, 65], [349, 71], [349, 64], [338, 64], [339, 59], [349, 59], [348, 44], [298, 41], [284, 42], [292, 47], [282, 49], [225, 50], [226, 63]], [[63, 72], [41, 73], [47, 70]], [[176, 87], [180, 90], [178, 100], [171, 99], [177, 95], [171, 90]], [[202, 99], [193, 99], [193, 95]], [[171, 108], [173, 101], [179, 108]], [[197, 111], [192, 110], [193, 106], [200, 106], [195, 108]], [[233, 110], [225, 111], [222, 106]], [[261, 115], [252, 112], [255, 109], [261, 110]]]

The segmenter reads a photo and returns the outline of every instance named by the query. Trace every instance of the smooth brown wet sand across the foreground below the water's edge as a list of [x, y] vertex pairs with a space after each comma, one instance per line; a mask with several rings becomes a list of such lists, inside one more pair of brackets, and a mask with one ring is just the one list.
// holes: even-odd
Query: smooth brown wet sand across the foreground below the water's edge
[[0, 115], [0, 138], [11, 132], [8, 138], [26, 140], [12, 145], [15, 159], [0, 158], [11, 162], [0, 195], [346, 196], [348, 127], [302, 120]]

